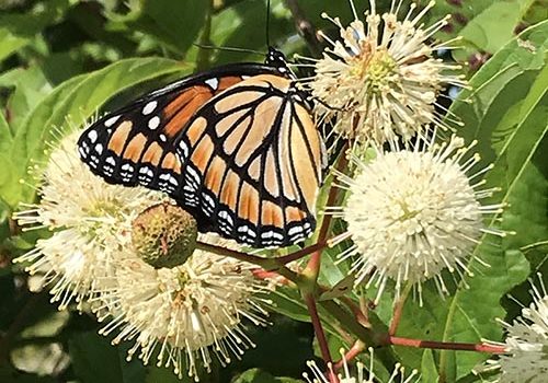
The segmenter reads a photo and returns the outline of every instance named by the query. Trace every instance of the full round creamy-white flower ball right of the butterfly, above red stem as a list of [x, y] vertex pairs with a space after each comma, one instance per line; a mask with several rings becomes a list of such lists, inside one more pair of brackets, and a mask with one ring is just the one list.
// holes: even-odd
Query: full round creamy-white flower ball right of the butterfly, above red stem
[[441, 271], [472, 275], [467, 262], [480, 236], [504, 234], [483, 225], [483, 214], [502, 208], [479, 202], [495, 190], [481, 189], [483, 182], [476, 179], [490, 166], [470, 174], [480, 160], [469, 155], [471, 146], [465, 148], [457, 137], [433, 142], [377, 150], [369, 163], [354, 158], [356, 175], [339, 175], [349, 198], [334, 213], [347, 223], [343, 236], [354, 242], [340, 260], [352, 258], [356, 282], [368, 278], [368, 287], [376, 281], [378, 295], [388, 279], [396, 281], [397, 295], [404, 282], [418, 287], [420, 295], [421, 282], [433, 277], [445, 293]]

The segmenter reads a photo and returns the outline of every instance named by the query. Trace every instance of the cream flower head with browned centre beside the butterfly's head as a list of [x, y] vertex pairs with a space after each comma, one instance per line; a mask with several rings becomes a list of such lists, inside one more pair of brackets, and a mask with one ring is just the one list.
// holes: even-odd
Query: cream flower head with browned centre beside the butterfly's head
[[465, 82], [455, 74], [458, 66], [434, 58], [436, 50], [450, 48], [450, 42], [429, 42], [447, 18], [424, 27], [421, 20], [434, 2], [420, 12], [411, 4], [402, 20], [398, 20], [401, 0], [392, 0], [383, 15], [375, 0], [369, 3], [365, 25], [352, 1], [354, 21], [349, 26], [323, 14], [340, 28], [340, 39], [324, 35], [331, 46], [313, 60], [316, 76], [309, 86], [321, 101], [318, 114], [334, 118], [334, 132], [357, 143], [380, 144], [398, 137], [407, 141], [425, 125], [446, 128], [436, 98], [448, 84]]

